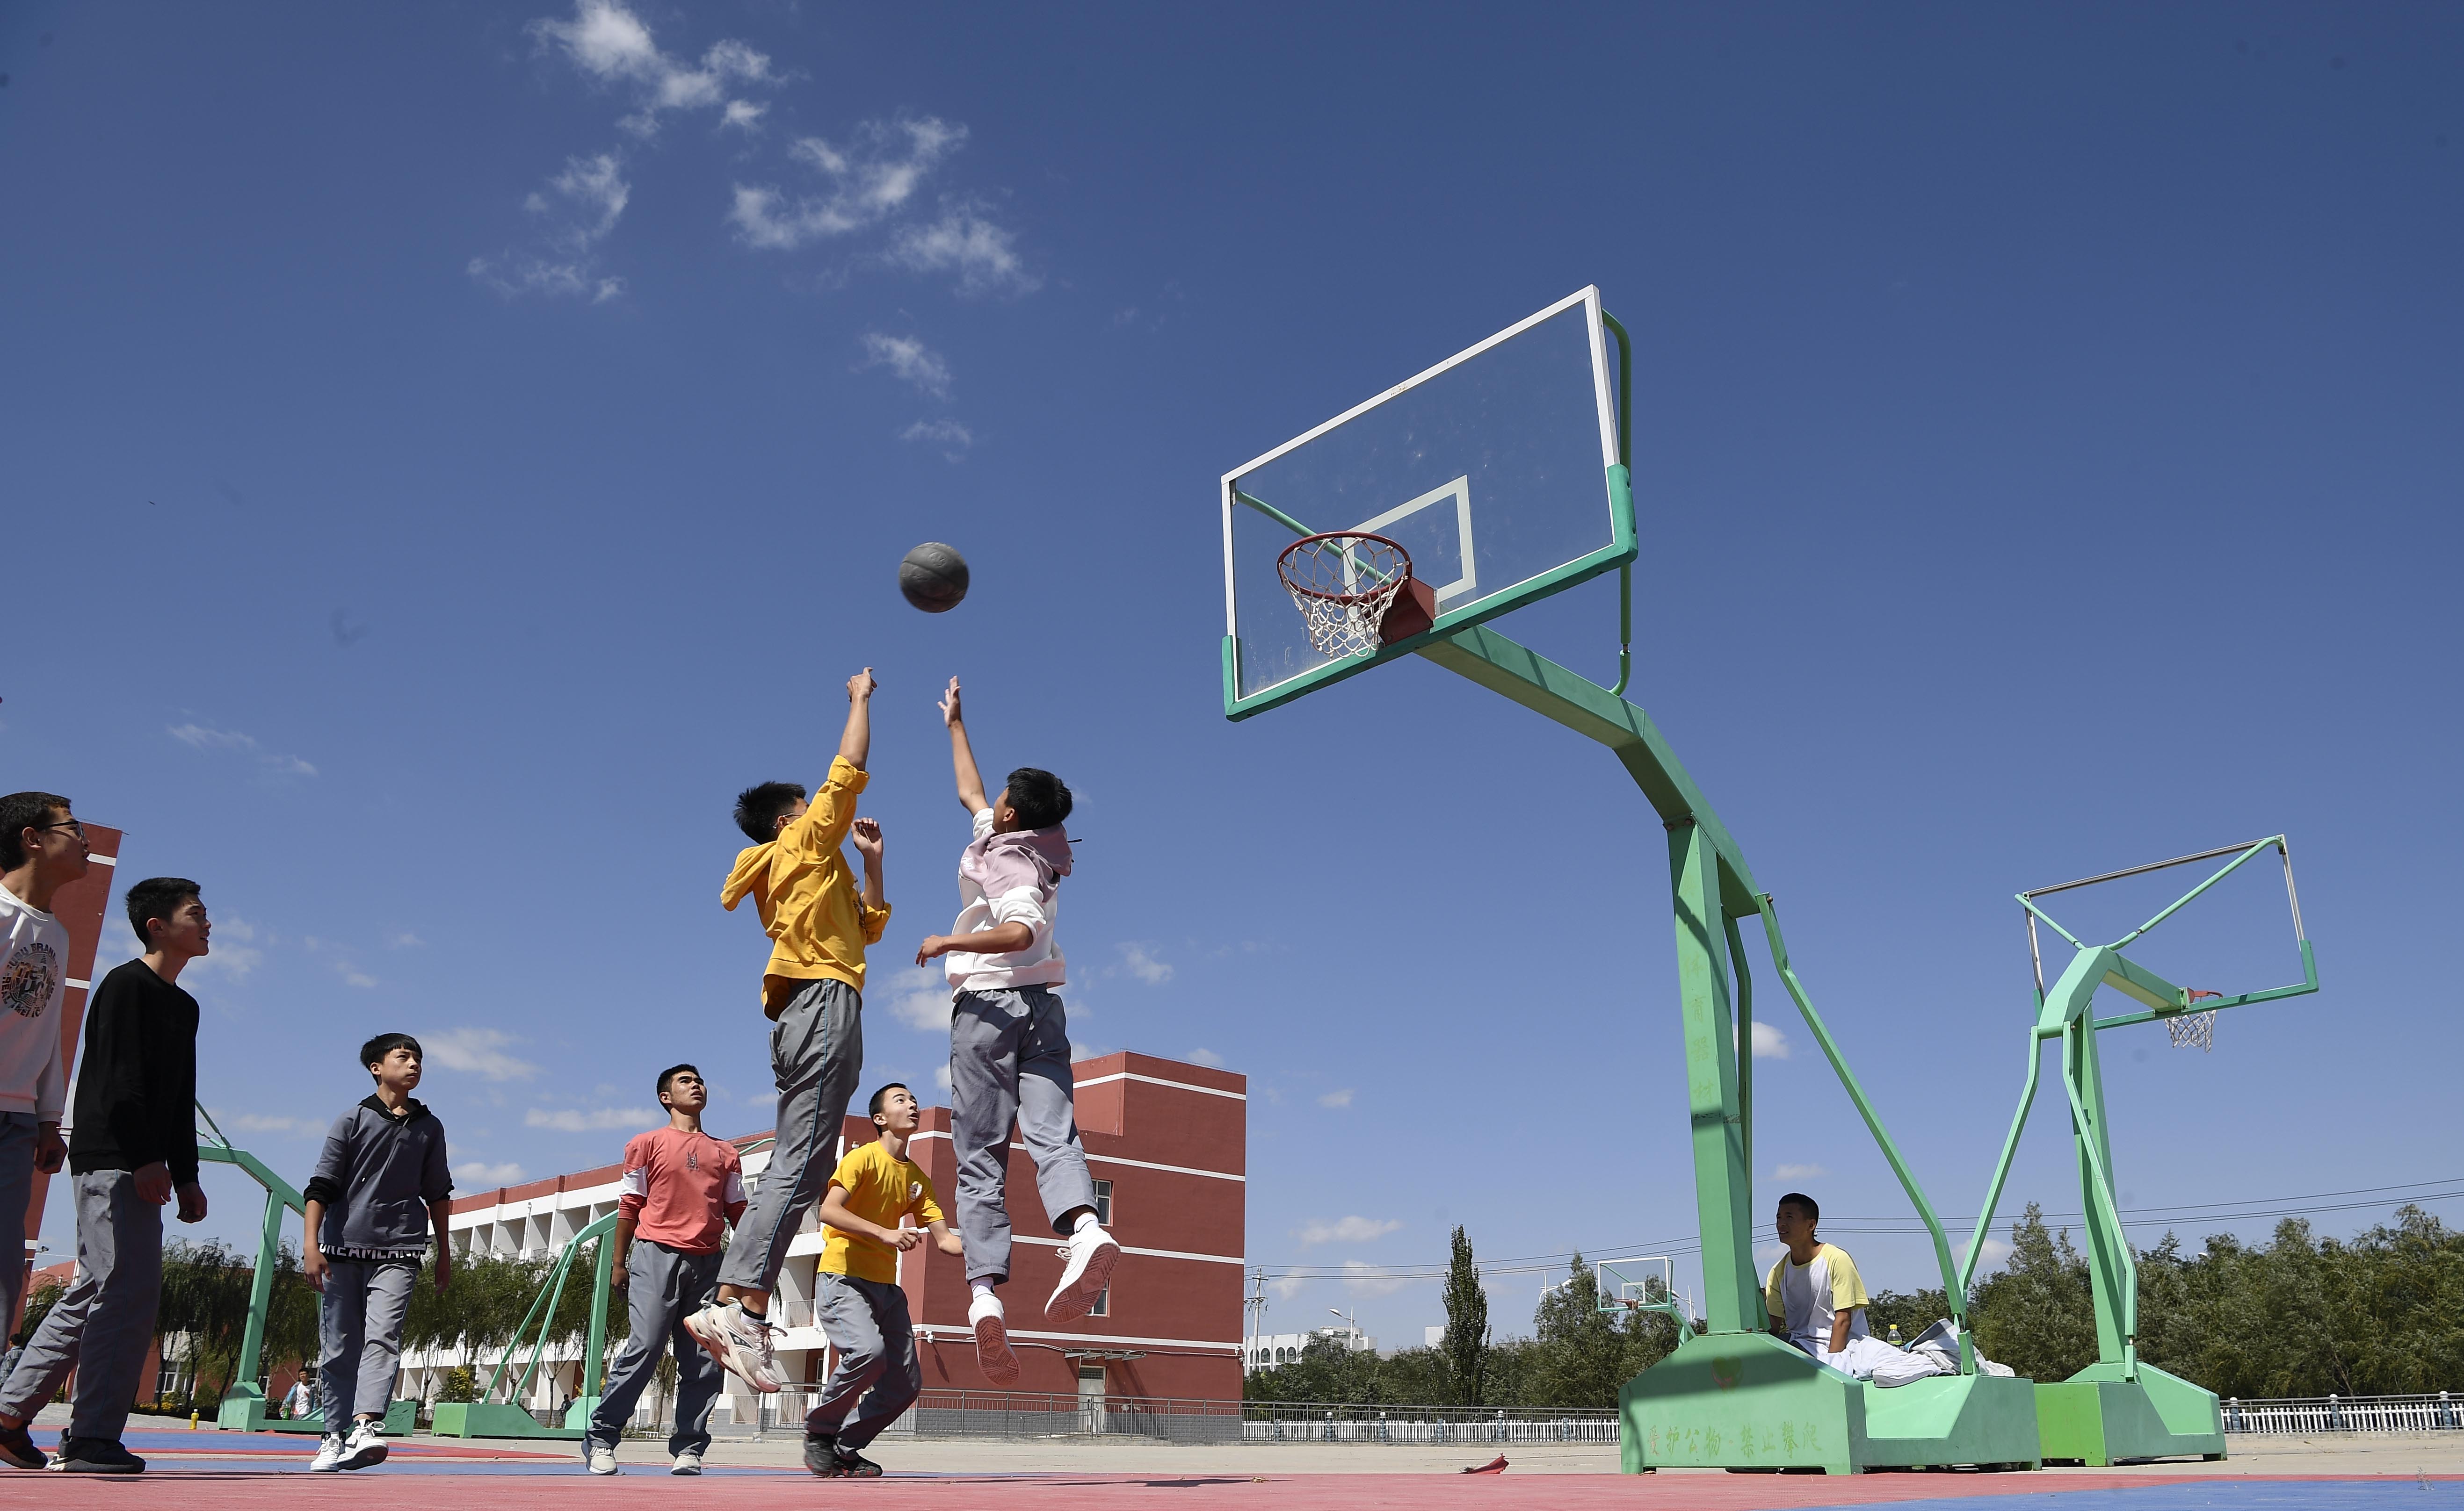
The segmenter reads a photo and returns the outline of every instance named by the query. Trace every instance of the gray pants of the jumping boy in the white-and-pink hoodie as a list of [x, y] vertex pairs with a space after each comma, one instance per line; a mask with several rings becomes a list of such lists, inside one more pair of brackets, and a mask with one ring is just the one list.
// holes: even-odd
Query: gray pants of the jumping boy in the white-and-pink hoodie
[[1010, 1120], [1035, 1157], [1055, 1233], [1094, 1206], [1069, 1102], [1069, 1019], [1047, 987], [958, 992], [949, 1014], [949, 1125], [958, 1154], [958, 1238], [968, 1282], [1010, 1277]]

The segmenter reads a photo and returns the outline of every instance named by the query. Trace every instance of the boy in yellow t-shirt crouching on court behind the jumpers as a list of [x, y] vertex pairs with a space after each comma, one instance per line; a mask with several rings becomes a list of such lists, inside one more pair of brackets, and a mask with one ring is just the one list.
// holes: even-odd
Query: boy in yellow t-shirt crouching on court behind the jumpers
[[[907, 1159], [907, 1139], [917, 1132], [914, 1095], [892, 1080], [872, 1093], [865, 1110], [882, 1137], [848, 1149], [830, 1171], [830, 1194], [821, 1198], [830, 1238], [813, 1275], [813, 1317], [838, 1349], [838, 1368], [803, 1417], [803, 1467], [823, 1479], [877, 1477], [882, 1467], [857, 1449], [899, 1420], [924, 1388], [899, 1255], [924, 1243], [926, 1233], [941, 1253], [961, 1253], [931, 1196], [931, 1176]], [[904, 1218], [919, 1226], [907, 1228]], [[857, 1398], [862, 1408], [848, 1422]]]

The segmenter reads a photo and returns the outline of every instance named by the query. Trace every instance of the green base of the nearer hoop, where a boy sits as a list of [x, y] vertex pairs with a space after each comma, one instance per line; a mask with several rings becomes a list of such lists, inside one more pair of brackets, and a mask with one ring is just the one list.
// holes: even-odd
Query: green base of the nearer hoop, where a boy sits
[[2035, 1383], [1937, 1376], [1890, 1390], [1772, 1334], [1705, 1334], [1616, 1393], [1626, 1474], [1643, 1469], [2038, 1467]]

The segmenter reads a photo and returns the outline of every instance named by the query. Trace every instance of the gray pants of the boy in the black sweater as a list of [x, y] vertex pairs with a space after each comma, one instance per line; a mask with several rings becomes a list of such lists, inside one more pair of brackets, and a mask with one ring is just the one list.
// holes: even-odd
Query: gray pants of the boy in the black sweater
[[69, 1437], [118, 1442], [138, 1388], [150, 1383], [140, 1376], [163, 1299], [163, 1208], [138, 1198], [138, 1179], [126, 1169], [71, 1179], [76, 1280], [0, 1388], [0, 1415], [32, 1420], [74, 1368]]

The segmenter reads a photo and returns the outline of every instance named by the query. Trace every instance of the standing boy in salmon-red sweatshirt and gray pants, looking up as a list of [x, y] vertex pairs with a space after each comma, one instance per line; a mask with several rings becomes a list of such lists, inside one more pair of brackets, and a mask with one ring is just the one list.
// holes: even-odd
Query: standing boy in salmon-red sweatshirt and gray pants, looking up
[[591, 1413], [586, 1454], [591, 1474], [616, 1474], [616, 1442], [633, 1415], [658, 1356], [675, 1344], [675, 1432], [668, 1435], [670, 1474], [700, 1474], [710, 1452], [710, 1408], [727, 1371], [685, 1331], [685, 1314], [719, 1282], [719, 1233], [744, 1216], [744, 1164], [737, 1147], [702, 1132], [710, 1088], [692, 1066], [658, 1073], [658, 1105], [668, 1127], [633, 1134], [623, 1147], [623, 1194], [616, 1198], [616, 1267], [609, 1285], [626, 1294], [633, 1331], [626, 1336], [606, 1393]]

